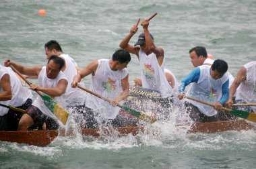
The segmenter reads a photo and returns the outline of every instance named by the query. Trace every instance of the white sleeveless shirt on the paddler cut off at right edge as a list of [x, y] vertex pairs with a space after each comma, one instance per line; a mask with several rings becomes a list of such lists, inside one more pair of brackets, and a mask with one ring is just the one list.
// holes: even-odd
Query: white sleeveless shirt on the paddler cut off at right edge
[[[244, 67], [247, 70], [247, 77], [236, 90], [236, 99], [243, 99], [246, 103], [256, 103], [256, 61], [249, 62]], [[251, 108], [256, 112], [256, 106]]]

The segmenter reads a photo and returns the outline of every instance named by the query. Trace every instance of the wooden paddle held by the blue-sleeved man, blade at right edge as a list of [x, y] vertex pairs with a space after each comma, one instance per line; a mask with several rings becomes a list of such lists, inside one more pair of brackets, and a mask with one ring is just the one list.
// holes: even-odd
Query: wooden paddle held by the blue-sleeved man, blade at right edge
[[[197, 101], [199, 103], [203, 103], [205, 105], [209, 105], [209, 106], [212, 106], [214, 107], [213, 104], [210, 104], [210, 103], [207, 103], [207, 102], [204, 102], [204, 101], [200, 101], [198, 99], [194, 99], [192, 97], [186, 97], [185, 98], [189, 99], [189, 100], [192, 100], [192, 101]], [[248, 111], [241, 111], [241, 110], [232, 110], [232, 109], [227, 109], [225, 107], [222, 107], [222, 109], [224, 111], [227, 111], [229, 113], [232, 113], [234, 116], [236, 117], [241, 117], [243, 119], [247, 119], [249, 121], [253, 121], [253, 122], [256, 122], [256, 114], [255, 113], [251, 113], [251, 112], [248, 112]]]

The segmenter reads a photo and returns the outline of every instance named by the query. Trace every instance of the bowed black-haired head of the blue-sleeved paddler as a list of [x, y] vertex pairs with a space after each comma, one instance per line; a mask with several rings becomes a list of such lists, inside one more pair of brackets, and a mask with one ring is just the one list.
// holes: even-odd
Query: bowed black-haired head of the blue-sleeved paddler
[[211, 67], [211, 76], [214, 79], [222, 78], [228, 70], [228, 64], [224, 60], [217, 59]]

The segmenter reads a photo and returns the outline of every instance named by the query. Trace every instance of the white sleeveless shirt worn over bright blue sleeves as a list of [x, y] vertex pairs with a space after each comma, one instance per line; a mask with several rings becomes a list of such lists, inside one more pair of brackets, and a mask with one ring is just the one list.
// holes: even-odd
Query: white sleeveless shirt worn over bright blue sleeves
[[[228, 74], [225, 73], [222, 78], [215, 80], [210, 74], [210, 66], [202, 65], [198, 67], [200, 68], [199, 80], [197, 83], [192, 83], [186, 95], [207, 103], [216, 104], [222, 97], [222, 84], [228, 80]], [[211, 106], [189, 99], [186, 99], [186, 101], [198, 107], [199, 111], [206, 116], [210, 117], [217, 114], [217, 111]]]

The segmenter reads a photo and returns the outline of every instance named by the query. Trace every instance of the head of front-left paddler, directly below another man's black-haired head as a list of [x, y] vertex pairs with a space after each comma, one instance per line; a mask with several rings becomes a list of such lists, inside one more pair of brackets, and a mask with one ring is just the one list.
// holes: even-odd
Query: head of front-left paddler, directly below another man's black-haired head
[[64, 64], [63, 58], [56, 55], [51, 56], [46, 65], [46, 76], [48, 78], [56, 78]]

